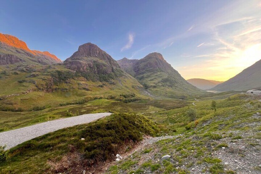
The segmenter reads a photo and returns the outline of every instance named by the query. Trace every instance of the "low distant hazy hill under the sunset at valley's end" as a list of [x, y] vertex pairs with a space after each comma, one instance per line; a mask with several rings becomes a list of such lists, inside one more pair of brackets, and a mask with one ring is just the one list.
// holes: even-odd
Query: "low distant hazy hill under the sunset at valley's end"
[[199, 89], [210, 89], [212, 87], [215, 87], [216, 85], [222, 83], [215, 80], [206, 80], [206, 79], [188, 79], [187, 80], [190, 84], [193, 86], [199, 88]]

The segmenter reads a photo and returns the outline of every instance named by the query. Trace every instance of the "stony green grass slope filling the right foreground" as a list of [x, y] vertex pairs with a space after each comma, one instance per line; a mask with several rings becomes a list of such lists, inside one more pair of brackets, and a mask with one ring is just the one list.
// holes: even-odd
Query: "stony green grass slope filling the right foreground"
[[[216, 100], [216, 111], [211, 100], [204, 100], [197, 106], [148, 113], [147, 118], [172, 137], [158, 138], [132, 151], [106, 173], [260, 173], [259, 100], [234, 95]], [[190, 110], [195, 111], [195, 117]], [[161, 160], [164, 155], [171, 157]]]

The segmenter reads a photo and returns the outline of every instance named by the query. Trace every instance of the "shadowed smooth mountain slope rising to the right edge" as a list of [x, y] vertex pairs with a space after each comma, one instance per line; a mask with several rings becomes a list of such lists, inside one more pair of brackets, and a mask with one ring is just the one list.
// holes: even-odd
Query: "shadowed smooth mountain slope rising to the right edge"
[[261, 88], [261, 60], [235, 77], [211, 88], [213, 91], [246, 91]]

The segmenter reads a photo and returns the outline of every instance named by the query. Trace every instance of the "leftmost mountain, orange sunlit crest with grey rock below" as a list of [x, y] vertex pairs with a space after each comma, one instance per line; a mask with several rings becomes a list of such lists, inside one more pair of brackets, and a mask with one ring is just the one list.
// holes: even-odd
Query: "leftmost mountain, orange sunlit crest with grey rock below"
[[26, 43], [17, 37], [0, 33], [0, 66], [10, 64], [48, 65], [62, 63], [55, 55], [48, 51], [30, 50]]

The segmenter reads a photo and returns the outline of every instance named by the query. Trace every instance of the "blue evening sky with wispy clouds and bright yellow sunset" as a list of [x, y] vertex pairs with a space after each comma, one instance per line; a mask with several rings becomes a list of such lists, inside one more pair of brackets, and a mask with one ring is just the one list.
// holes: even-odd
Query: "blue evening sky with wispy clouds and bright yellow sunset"
[[159, 52], [185, 79], [225, 81], [261, 59], [260, 0], [0, 2], [0, 33], [62, 60], [92, 42], [115, 60]]

